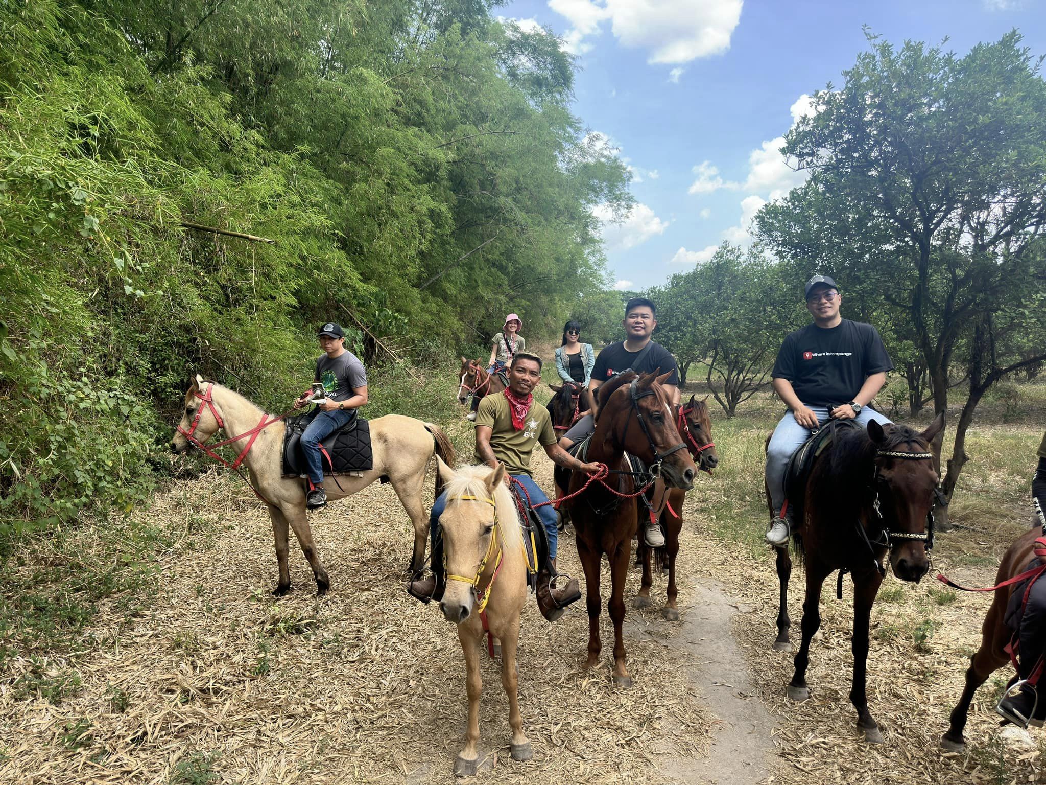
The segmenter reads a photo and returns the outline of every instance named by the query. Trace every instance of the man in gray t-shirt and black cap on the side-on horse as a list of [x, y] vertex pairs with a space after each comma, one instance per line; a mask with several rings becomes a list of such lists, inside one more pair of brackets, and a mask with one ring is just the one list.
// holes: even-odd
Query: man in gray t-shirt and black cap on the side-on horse
[[[323, 490], [323, 455], [320, 442], [356, 417], [356, 410], [367, 403], [367, 372], [359, 358], [345, 349], [345, 331], [328, 321], [317, 337], [324, 354], [316, 360], [313, 382], [323, 385], [326, 399], [306, 416], [309, 426], [301, 434], [301, 447], [309, 464], [309, 494], [305, 506], [316, 509], [326, 504]], [[312, 390], [294, 402], [300, 409], [309, 403]]]

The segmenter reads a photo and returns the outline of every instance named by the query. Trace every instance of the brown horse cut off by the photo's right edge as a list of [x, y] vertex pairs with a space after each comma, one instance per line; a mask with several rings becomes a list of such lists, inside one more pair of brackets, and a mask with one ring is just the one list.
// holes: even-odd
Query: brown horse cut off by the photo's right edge
[[[1037, 525], [1014, 540], [1014, 543], [1003, 554], [1002, 563], [999, 564], [999, 571], [995, 577], [996, 584], [1008, 581], [1024, 571], [1028, 562], [1031, 561], [1036, 538], [1042, 536], [1043, 530]], [[1013, 630], [1005, 622], [1006, 606], [1009, 604], [1009, 598], [1014, 590], [1018, 587], [1021, 590], [1024, 589], [1024, 586], [1018, 582], [1008, 586], [1000, 586], [995, 590], [992, 607], [988, 608], [987, 615], [984, 616], [984, 624], [981, 626], [980, 649], [970, 657], [970, 667], [967, 669], [967, 686], [962, 690], [962, 697], [952, 710], [948, 733], [940, 737], [940, 746], [950, 753], [961, 753], [965, 746], [962, 731], [967, 726], [967, 715], [970, 712], [970, 703], [974, 699], [977, 688], [983, 685], [995, 671], [1009, 663], [1009, 655], [1005, 652], [1005, 647], [1013, 636]], [[1041, 692], [1040, 695], [1042, 695]]]

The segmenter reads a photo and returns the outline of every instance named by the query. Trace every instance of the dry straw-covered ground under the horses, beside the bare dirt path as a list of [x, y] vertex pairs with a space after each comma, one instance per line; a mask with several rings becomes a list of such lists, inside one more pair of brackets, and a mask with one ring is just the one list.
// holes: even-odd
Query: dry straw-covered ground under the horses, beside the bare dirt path
[[[939, 537], [934, 554], [935, 568], [962, 582], [988, 584], [1002, 551], [1025, 524], [1031, 455], [1046, 420], [1043, 388], [1028, 389], [1021, 394], [1031, 397], [1023, 413], [1015, 417], [1005, 400], [990, 401], [984, 423], [971, 433], [973, 461], [952, 516], [960, 528]], [[714, 420], [721, 469], [702, 475], [688, 496], [679, 563], [684, 622], [698, 579], [722, 581], [744, 600], [735, 638], [778, 725], [766, 740], [777, 753], [776, 771], [766, 781], [1041, 781], [1041, 735], [1034, 733], [1028, 747], [1007, 744], [994, 719], [991, 701], [1005, 672], [974, 703], [967, 753], [947, 755], [937, 746], [979, 642], [990, 603], [983, 595], [887, 578], [872, 615], [868, 678], [884, 744], [860, 740], [847, 698], [848, 581], [841, 602], [834, 585], [824, 592], [809, 673], [812, 699], [787, 700], [791, 655], [770, 649], [776, 578], [759, 545], [761, 446], [775, 412], [772, 402], [754, 401], [733, 420]], [[463, 447], [464, 429], [452, 430]], [[550, 464], [535, 461], [539, 480], [550, 486]], [[176, 484], [150, 510], [108, 530], [84, 529], [71, 540], [74, 548], [47, 552], [38, 543], [31, 561], [14, 560], [2, 585], [5, 607], [16, 602], [14, 592], [31, 593], [37, 576], [55, 571], [100, 576], [105, 583], [121, 564], [140, 562], [144, 577], [111, 590], [71, 589], [97, 599], [83, 623], [60, 620], [75, 630], [64, 648], [33, 647], [25, 630], [16, 640], [15, 631], [0, 627], [0, 782], [452, 779], [464, 728], [463, 665], [454, 628], [400, 588], [410, 542], [406, 515], [388, 487], [374, 486], [312, 521], [333, 581], [319, 600], [293, 546], [295, 590], [278, 601], [271, 597], [276, 575], [268, 518], [238, 479], [214, 473]], [[154, 533], [152, 544], [135, 550], [141, 532]], [[561, 562], [579, 571], [572, 537], [563, 543]], [[637, 589], [634, 573], [627, 596]], [[792, 589], [796, 637], [801, 568]], [[654, 590], [663, 597], [660, 578]], [[50, 605], [40, 600], [48, 619], [58, 614], [55, 598], [44, 598]], [[629, 607], [635, 628], [654, 634], [627, 641], [635, 687], [621, 690], [610, 682], [606, 615], [602, 665], [586, 672], [583, 604], [555, 625], [529, 604], [520, 693], [535, 758], [515, 763], [507, 756], [507, 703], [497, 666], [484, 655], [481, 743], [492, 750], [494, 768], [477, 780], [661, 782], [656, 766], [664, 756], [692, 757], [700, 767], [717, 719], [729, 717], [703, 708], [693, 678], [703, 664], [673, 647], [680, 627], [663, 622], [658, 609], [655, 603], [640, 614]]]

